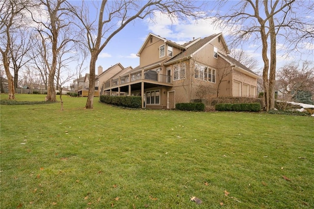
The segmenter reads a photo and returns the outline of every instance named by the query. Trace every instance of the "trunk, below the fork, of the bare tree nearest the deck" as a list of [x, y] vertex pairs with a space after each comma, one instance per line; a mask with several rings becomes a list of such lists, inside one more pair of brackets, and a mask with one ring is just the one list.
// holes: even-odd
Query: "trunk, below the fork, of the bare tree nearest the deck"
[[85, 109], [92, 109], [94, 105], [94, 94], [95, 94], [95, 69], [98, 54], [92, 53], [89, 63], [89, 88], [88, 97], [85, 105]]

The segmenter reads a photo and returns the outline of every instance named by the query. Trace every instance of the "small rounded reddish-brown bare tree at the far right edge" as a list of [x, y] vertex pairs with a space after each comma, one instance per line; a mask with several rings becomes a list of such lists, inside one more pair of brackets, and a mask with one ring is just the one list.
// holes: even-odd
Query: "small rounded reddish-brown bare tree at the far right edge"
[[291, 62], [280, 68], [277, 78], [279, 90], [283, 94], [294, 97], [298, 91], [313, 91], [314, 89], [314, 67], [313, 63], [304, 61], [300, 65]]

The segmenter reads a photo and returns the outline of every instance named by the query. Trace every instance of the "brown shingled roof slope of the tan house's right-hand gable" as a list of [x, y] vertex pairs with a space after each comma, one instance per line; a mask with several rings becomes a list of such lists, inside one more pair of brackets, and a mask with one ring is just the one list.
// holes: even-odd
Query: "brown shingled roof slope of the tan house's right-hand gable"
[[[204, 47], [206, 47], [213, 39], [215, 39], [218, 36], [222, 36], [222, 34], [221, 33], [213, 34], [213, 35], [205, 37], [203, 39], [198, 38], [196, 40], [193, 40], [193, 41], [190, 41], [190, 42], [183, 44], [183, 46], [187, 47], [186, 50], [177, 54], [176, 56], [172, 57], [167, 62], [165, 62], [165, 64], [171, 64], [171, 63], [177, 62], [178, 60], [180, 60], [182, 58], [193, 56], [193, 54], [195, 54], [196, 52], [198, 52], [201, 49], [203, 49]], [[226, 47], [227, 47], [227, 45], [226, 45]]]

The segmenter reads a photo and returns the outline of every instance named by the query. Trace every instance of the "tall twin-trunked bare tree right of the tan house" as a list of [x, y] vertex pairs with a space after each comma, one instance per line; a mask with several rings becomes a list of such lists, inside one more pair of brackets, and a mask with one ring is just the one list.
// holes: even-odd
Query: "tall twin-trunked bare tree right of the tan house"
[[[226, 1], [219, 2], [217, 11], [222, 11]], [[275, 104], [275, 75], [276, 75], [276, 44], [278, 37], [283, 36], [285, 41], [292, 35], [291, 26], [296, 21], [301, 28], [305, 23], [298, 17], [296, 10], [300, 10], [300, 3], [293, 7], [295, 0], [245, 0], [238, 1], [228, 10], [228, 14], [217, 14], [216, 23], [231, 28], [234, 38], [233, 44], [251, 41], [262, 43], [263, 60], [263, 108], [268, 111], [274, 109]], [[313, 7], [303, 7], [304, 10]], [[302, 37], [294, 36], [298, 40]], [[291, 39], [292, 40], [292, 39]], [[284, 41], [283, 41], [284, 42]], [[291, 43], [292, 45], [295, 43]], [[270, 45], [270, 46], [268, 46]], [[270, 55], [268, 55], [268, 52]]]

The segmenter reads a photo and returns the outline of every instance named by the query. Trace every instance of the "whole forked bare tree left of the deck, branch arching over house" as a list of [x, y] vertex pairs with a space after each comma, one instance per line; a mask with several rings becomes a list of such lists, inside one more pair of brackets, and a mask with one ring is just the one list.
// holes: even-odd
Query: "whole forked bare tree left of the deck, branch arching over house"
[[[203, 17], [200, 13], [203, 5], [194, 5], [190, 0], [103, 0], [99, 5], [97, 19], [90, 20], [87, 1], [80, 7], [72, 8], [80, 21], [80, 28], [85, 33], [85, 43], [91, 54], [89, 64], [89, 91], [85, 108], [93, 108], [95, 93], [95, 67], [98, 55], [108, 42], [125, 26], [135, 19], [152, 18], [155, 11], [167, 14], [171, 19], [185, 17]], [[72, 7], [72, 5], [69, 5]]]

